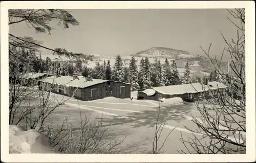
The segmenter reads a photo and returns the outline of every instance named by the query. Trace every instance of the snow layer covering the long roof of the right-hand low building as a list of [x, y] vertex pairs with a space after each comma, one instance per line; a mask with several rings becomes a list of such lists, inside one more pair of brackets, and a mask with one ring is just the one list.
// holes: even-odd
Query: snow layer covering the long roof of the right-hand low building
[[[218, 87], [226, 88], [224, 84], [214, 81], [214, 82], [208, 82], [208, 85], [201, 84], [201, 83], [191, 83], [191, 84], [152, 87], [152, 88], [145, 89], [142, 92], [144, 92], [147, 95], [148, 95], [147, 92], [150, 92], [150, 94], [152, 94], [153, 93], [152, 89], [153, 89], [164, 95], [182, 95], [186, 93], [203, 92], [209, 89], [217, 89]], [[148, 95], [148, 96], [152, 96], [152, 95]]]

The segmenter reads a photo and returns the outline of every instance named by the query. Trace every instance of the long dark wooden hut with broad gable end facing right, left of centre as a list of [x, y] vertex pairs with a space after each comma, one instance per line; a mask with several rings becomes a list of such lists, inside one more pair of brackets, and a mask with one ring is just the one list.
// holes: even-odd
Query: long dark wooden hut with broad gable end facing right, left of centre
[[83, 76], [52, 76], [40, 80], [39, 89], [90, 101], [105, 97], [131, 98], [131, 84], [112, 80], [89, 79]]

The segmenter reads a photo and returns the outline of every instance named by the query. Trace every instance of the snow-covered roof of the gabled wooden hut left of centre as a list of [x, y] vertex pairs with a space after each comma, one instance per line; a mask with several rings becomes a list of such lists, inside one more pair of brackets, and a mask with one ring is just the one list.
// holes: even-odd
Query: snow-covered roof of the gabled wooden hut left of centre
[[[111, 80], [91, 79], [91, 80], [86, 81], [86, 78], [84, 78], [83, 76], [78, 76], [77, 79], [73, 79], [72, 76], [60, 76], [60, 77], [51, 76], [51, 77], [42, 79], [41, 81], [46, 82], [46, 83], [63, 85], [63, 86], [86, 88], [89, 86], [101, 84], [101, 83], [111, 81]], [[113, 81], [113, 82], [117, 82], [117, 81]], [[119, 82], [119, 83], [121, 83], [121, 82]], [[130, 85], [130, 83], [125, 83], [125, 84]]]

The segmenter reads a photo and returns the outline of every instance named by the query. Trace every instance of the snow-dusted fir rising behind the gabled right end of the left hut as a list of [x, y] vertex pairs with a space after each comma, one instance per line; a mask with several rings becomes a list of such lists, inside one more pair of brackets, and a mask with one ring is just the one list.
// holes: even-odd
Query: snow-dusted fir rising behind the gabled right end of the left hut
[[120, 55], [117, 55], [116, 62], [113, 68], [112, 79], [114, 81], [123, 82], [124, 72], [123, 72], [123, 62]]

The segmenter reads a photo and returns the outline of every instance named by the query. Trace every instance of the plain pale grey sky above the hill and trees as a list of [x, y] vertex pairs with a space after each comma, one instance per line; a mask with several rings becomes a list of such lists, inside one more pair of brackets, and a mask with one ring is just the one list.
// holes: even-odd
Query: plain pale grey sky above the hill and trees
[[[161, 46], [203, 55], [212, 43], [212, 55], [220, 56], [225, 43], [220, 31], [236, 38], [236, 27], [225, 9], [76, 9], [69, 10], [80, 22], [63, 30], [57, 24], [52, 35], [36, 34], [25, 23], [9, 26], [17, 36], [32, 36], [49, 48], [65, 48], [74, 53], [127, 56]], [[41, 50], [42, 55], [52, 52]], [[224, 56], [225, 59], [228, 56]]]

